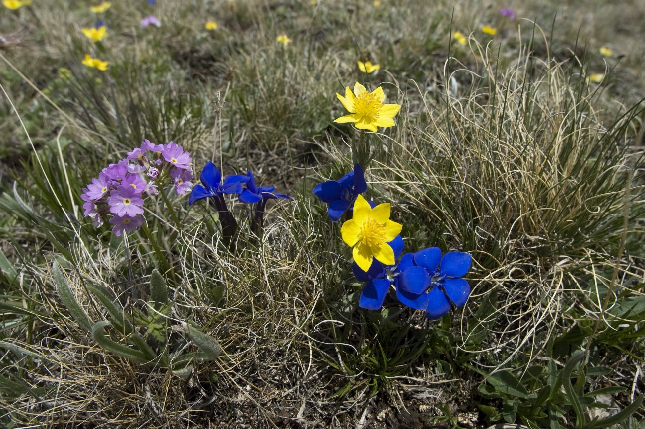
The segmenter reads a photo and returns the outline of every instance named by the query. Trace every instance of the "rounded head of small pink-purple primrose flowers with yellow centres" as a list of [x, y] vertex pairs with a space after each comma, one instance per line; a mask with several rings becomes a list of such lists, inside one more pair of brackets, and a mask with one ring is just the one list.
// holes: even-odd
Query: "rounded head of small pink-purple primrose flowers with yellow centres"
[[174, 141], [154, 145], [146, 139], [124, 159], [103, 168], [99, 177], [83, 188], [83, 214], [91, 217], [97, 227], [106, 215], [112, 215], [108, 222], [114, 225], [112, 232], [117, 237], [134, 231], [145, 220], [145, 197], [159, 194], [160, 188], [163, 192], [170, 183], [179, 195], [191, 190], [190, 161], [190, 154]]

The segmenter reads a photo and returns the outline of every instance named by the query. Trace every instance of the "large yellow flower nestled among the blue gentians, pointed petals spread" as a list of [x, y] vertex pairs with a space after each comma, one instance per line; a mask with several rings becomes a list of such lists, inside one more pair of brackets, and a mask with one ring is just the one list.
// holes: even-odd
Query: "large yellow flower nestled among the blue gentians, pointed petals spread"
[[342, 224], [342, 240], [350, 247], [354, 261], [363, 271], [370, 269], [372, 258], [392, 265], [394, 250], [388, 244], [401, 233], [403, 226], [390, 221], [390, 203], [370, 207], [362, 195], [354, 203], [353, 219]]

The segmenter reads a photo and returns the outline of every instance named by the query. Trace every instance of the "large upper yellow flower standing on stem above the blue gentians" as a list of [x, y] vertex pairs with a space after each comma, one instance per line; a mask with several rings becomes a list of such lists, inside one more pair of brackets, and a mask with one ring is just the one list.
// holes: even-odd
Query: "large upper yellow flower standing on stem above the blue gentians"
[[401, 105], [383, 105], [385, 94], [381, 86], [368, 92], [360, 83], [355, 83], [354, 91], [345, 88], [345, 96], [336, 93], [342, 105], [350, 112], [334, 120], [338, 123], [354, 123], [356, 128], [376, 131], [378, 126], [387, 128], [395, 126], [394, 116], [401, 110]]

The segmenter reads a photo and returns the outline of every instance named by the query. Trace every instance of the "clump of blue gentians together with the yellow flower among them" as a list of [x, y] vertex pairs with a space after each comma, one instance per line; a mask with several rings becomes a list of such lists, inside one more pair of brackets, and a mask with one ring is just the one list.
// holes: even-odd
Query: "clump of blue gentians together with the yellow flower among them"
[[[352, 247], [355, 277], [366, 282], [359, 306], [378, 310], [390, 288], [402, 304], [425, 310], [437, 319], [450, 310], [450, 303], [463, 306], [470, 296], [470, 284], [461, 277], [470, 269], [471, 255], [424, 248], [401, 256], [404, 248], [402, 225], [390, 220], [389, 203], [376, 205], [361, 194], [367, 185], [360, 165], [338, 181], [326, 181], [313, 194], [328, 203], [328, 214], [337, 222], [348, 210], [352, 219], [342, 224], [343, 241]], [[397, 262], [398, 261], [398, 262]]]

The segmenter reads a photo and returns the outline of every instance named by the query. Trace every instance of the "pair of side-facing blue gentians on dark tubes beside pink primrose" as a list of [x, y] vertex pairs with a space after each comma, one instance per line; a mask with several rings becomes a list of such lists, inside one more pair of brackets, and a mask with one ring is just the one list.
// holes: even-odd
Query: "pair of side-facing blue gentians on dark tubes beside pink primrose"
[[[199, 175], [201, 185], [195, 185], [190, 192], [188, 205], [202, 199], [210, 199], [215, 205], [219, 214], [219, 222], [222, 226], [224, 241], [231, 250], [235, 248], [234, 236], [237, 232], [235, 217], [228, 210], [225, 194], [237, 195], [241, 203], [253, 204], [251, 217], [251, 230], [255, 234], [261, 232], [264, 223], [264, 209], [270, 199], [292, 199], [289, 195], [275, 192], [275, 186], [257, 186], [252, 172], [247, 171], [245, 175], [231, 174], [224, 177], [213, 163], [208, 162]], [[244, 187], [243, 187], [244, 185]]]

